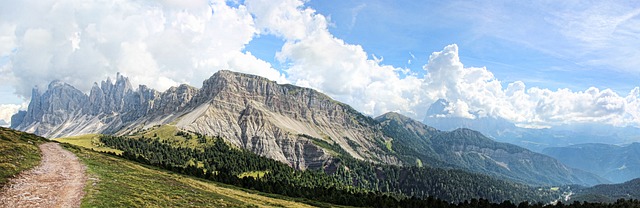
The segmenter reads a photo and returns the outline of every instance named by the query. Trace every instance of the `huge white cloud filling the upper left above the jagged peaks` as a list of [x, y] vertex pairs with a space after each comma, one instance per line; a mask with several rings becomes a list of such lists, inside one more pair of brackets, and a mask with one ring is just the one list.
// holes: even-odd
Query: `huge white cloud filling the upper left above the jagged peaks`
[[256, 32], [244, 6], [223, 0], [5, 1], [0, 56], [8, 61], [0, 64], [25, 98], [54, 79], [86, 91], [116, 72], [159, 90], [199, 86], [219, 69], [283, 80], [241, 52]]

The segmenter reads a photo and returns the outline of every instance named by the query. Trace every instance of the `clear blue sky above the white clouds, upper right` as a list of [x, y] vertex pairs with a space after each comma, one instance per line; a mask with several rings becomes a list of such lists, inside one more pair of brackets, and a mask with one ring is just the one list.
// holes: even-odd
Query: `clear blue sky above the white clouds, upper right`
[[[334, 25], [330, 31], [336, 37], [384, 57], [383, 63], [407, 67], [416, 73], [423, 72], [422, 66], [431, 52], [455, 43], [460, 47], [462, 63], [485, 66], [506, 83], [521, 80], [528, 86], [575, 91], [595, 86], [620, 93], [627, 93], [638, 84], [640, 66], [585, 64], [591, 58], [605, 57], [565, 52], [566, 48], [589, 49], [580, 47], [583, 44], [580, 39], [562, 35], [564, 28], [561, 26], [548, 23], [555, 18], [553, 13], [562, 12], [561, 5], [552, 3], [540, 8], [529, 4], [519, 1], [364, 0], [309, 3], [319, 13], [331, 17]], [[633, 6], [637, 12], [639, 5]], [[638, 16], [633, 19], [637, 21]], [[506, 31], [492, 31], [494, 28]], [[635, 43], [638, 43], [637, 39]], [[626, 43], [613, 41], [605, 47], [616, 47], [617, 44]], [[634, 52], [636, 57], [640, 54], [639, 49]], [[407, 63], [410, 59], [413, 59], [412, 64]]]

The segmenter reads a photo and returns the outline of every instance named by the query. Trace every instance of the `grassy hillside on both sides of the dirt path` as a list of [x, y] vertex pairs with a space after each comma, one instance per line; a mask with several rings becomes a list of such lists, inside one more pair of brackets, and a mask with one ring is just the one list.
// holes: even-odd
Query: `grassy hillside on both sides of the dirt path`
[[[93, 136], [67, 138], [64, 141], [90, 145]], [[46, 141], [33, 134], [0, 127], [1, 184], [4, 185], [8, 177], [38, 165], [38, 145]], [[266, 196], [70, 145], [66, 149], [75, 153], [88, 168], [89, 180], [82, 207], [311, 207], [305, 203], [335, 206], [305, 199]], [[0, 207], [7, 205], [3, 203], [0, 201]]]

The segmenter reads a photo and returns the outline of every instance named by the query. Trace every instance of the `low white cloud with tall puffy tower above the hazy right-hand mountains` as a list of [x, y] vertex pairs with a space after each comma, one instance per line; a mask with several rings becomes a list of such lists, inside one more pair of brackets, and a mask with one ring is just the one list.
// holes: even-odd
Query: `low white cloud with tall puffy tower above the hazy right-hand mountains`
[[638, 88], [626, 97], [595, 87], [579, 92], [526, 89], [520, 81], [505, 89], [486, 68], [465, 68], [456, 45], [434, 52], [424, 68], [428, 71], [423, 88], [427, 98], [449, 100], [446, 110], [450, 116], [502, 117], [522, 126], [588, 122], [640, 125]]

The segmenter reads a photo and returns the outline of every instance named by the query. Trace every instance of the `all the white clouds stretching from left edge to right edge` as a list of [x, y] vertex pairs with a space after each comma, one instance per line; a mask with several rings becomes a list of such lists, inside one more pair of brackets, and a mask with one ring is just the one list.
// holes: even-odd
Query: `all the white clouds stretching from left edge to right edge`
[[[639, 88], [618, 95], [527, 88], [521, 81], [503, 85], [486, 68], [465, 67], [455, 44], [432, 53], [418, 75], [333, 36], [328, 18], [299, 0], [0, 4], [0, 57], [6, 59], [0, 79], [25, 98], [34, 85], [54, 79], [88, 90], [121, 72], [133, 83], [164, 90], [177, 83], [199, 86], [230, 69], [318, 89], [373, 116], [397, 111], [422, 120], [442, 98], [457, 117], [502, 117], [526, 126], [640, 126]], [[260, 35], [284, 40], [274, 54], [284, 68], [245, 51]]]

